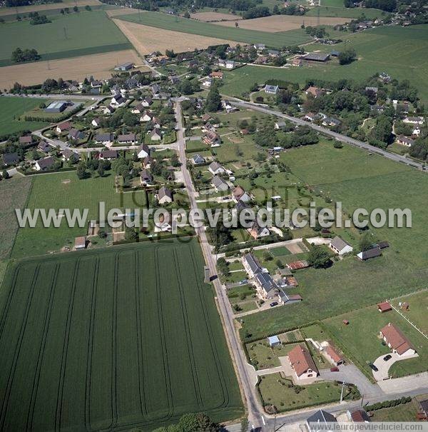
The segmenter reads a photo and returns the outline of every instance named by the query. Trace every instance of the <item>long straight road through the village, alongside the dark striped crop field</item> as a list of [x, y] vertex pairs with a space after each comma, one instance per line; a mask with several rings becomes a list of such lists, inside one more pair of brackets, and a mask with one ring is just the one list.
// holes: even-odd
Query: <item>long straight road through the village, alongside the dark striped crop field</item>
[[[175, 115], [177, 118], [177, 139], [178, 139], [178, 149], [179, 149], [179, 158], [182, 164], [182, 172], [183, 172], [183, 180], [185, 184], [185, 188], [188, 191], [188, 196], [190, 200], [190, 209], [197, 209], [198, 204], [195, 200], [195, 188], [193, 186], [193, 181], [190, 177], [190, 173], [187, 169], [186, 163], [187, 158], [185, 155], [185, 139], [184, 139], [184, 129], [182, 124], [182, 116], [181, 116], [181, 106], [180, 101], [182, 99], [175, 99]], [[203, 255], [205, 257], [205, 262], [210, 268], [211, 275], [217, 274], [217, 269], [215, 267], [215, 260], [211, 253], [211, 246], [208, 243], [205, 231], [203, 228], [196, 228], [196, 233], [200, 238], [200, 246], [203, 251]], [[254, 427], [263, 427], [263, 412], [261, 411], [261, 407], [258, 402], [258, 396], [256, 393], [256, 389], [253, 385], [253, 382], [248, 375], [248, 363], [243, 353], [243, 350], [240, 345], [240, 340], [235, 331], [234, 319], [233, 319], [233, 311], [228, 298], [226, 296], [225, 290], [220, 283], [218, 278], [214, 279], [213, 285], [215, 288], [215, 292], [217, 293], [218, 305], [220, 308], [220, 312], [223, 318], [223, 326], [225, 328], [225, 333], [228, 338], [228, 343], [230, 349], [233, 354], [233, 360], [235, 361], [235, 366], [238, 369], [238, 378], [240, 378], [241, 388], [243, 389], [243, 393], [246, 399], [246, 406], [248, 409], [248, 418], [250, 420], [250, 426]]]

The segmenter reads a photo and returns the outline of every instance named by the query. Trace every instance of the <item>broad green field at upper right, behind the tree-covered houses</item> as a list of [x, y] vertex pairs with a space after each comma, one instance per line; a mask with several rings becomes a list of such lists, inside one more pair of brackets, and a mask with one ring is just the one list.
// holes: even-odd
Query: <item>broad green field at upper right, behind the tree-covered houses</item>
[[[228, 71], [225, 74], [225, 85], [221, 87], [222, 94], [242, 96], [249, 91], [254, 83], [264, 84], [268, 79], [305, 84], [307, 79], [353, 79], [361, 81], [375, 73], [387, 72], [394, 79], [408, 79], [418, 88], [420, 99], [428, 102], [427, 56], [428, 25], [398, 27], [383, 26], [376, 29], [361, 31], [357, 34], [341, 33], [343, 42], [335, 45], [335, 49], [353, 46], [357, 51], [358, 60], [347, 66], [337, 63], [314, 64], [310, 67], [289, 69], [265, 68], [259, 66], [243, 66]], [[331, 46], [311, 44], [308, 51], [319, 50], [330, 52]]]

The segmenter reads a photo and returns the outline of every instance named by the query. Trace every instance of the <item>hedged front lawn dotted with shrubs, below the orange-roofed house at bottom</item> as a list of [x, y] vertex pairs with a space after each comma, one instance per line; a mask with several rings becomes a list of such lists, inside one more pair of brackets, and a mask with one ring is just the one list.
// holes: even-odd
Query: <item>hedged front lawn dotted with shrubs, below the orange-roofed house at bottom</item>
[[337, 383], [299, 386], [297, 393], [292, 381], [281, 378], [279, 373], [262, 376], [258, 388], [263, 404], [274, 405], [279, 412], [340, 401], [341, 386]]

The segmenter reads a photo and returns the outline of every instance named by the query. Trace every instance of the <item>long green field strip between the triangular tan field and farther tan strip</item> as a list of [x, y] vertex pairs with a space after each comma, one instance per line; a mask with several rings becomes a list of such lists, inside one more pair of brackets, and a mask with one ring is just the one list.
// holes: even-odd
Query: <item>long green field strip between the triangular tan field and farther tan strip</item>
[[218, 26], [195, 19], [176, 18], [159, 12], [142, 12], [141, 14], [129, 14], [117, 16], [118, 19], [131, 21], [146, 26], [158, 27], [160, 29], [181, 31], [189, 34], [200, 34], [218, 39], [245, 42], [246, 44], [265, 44], [267, 46], [281, 47], [285, 45], [303, 44], [310, 40], [302, 29], [285, 31], [284, 33], [269, 33], [267, 31], [256, 31], [248, 29], [235, 29], [232, 27]]

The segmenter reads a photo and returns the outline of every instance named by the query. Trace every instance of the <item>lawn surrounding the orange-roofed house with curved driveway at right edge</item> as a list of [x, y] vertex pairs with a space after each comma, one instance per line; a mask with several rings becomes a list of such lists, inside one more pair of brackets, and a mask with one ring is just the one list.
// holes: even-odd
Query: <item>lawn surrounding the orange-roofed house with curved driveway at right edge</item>
[[[344, 319], [350, 321], [349, 325], [345, 326], [342, 323]], [[377, 306], [370, 306], [327, 318], [322, 323], [345, 355], [363, 368], [369, 376], [372, 375], [372, 370], [367, 363], [390, 352], [390, 349], [382, 345], [382, 341], [377, 337], [379, 330], [387, 323], [394, 323], [409, 338], [419, 357], [394, 363], [389, 373], [397, 378], [427, 370], [428, 340], [395, 311], [379, 313]]]

